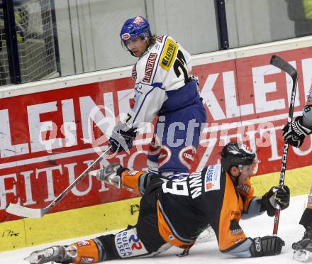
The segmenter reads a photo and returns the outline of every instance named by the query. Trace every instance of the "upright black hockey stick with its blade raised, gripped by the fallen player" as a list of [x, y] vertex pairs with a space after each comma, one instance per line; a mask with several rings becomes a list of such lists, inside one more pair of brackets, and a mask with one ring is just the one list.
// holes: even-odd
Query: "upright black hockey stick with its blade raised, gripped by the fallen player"
[[[294, 67], [292, 67], [288, 62], [284, 61], [281, 57], [278, 57], [277, 55], [273, 55], [269, 63], [274, 65], [275, 67], [278, 67], [284, 72], [286, 72], [288, 75], [290, 75], [292, 79], [293, 87], [291, 90], [289, 114], [288, 114], [288, 119], [287, 119], [287, 122], [289, 123], [291, 122], [293, 114], [294, 114], [294, 104], [295, 104], [295, 97], [296, 97], [298, 73]], [[281, 174], [279, 176], [279, 186], [284, 185], [287, 154], [288, 154], [288, 143], [284, 143], [282, 168], [281, 168]], [[275, 209], [275, 212], [274, 212], [273, 235], [277, 235], [277, 230], [279, 228], [279, 212], [280, 211], [281, 211], [281, 208], [279, 207], [279, 204], [277, 204], [277, 208]]]

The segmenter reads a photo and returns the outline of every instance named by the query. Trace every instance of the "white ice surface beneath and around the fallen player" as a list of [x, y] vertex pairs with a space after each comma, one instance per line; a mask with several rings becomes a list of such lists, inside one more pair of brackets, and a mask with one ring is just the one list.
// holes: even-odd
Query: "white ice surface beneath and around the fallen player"
[[[182, 253], [182, 250], [179, 248], [170, 248], [165, 253], [158, 255], [153, 258], [136, 258], [126, 260], [113, 260], [110, 263], [118, 264], [225, 264], [228, 261], [230, 264], [268, 264], [268, 263], [298, 263], [291, 258], [291, 244], [295, 241], [298, 241], [303, 236], [303, 227], [300, 226], [299, 220], [301, 214], [306, 206], [307, 195], [292, 197], [291, 204], [288, 209], [281, 211], [281, 216], [279, 219], [279, 236], [282, 237], [286, 243], [282, 253], [280, 255], [272, 257], [263, 257], [263, 258], [234, 258], [228, 256], [224, 253], [218, 251], [218, 245], [216, 238], [211, 238], [206, 243], [196, 244], [191, 248], [191, 251], [188, 256], [184, 258], [179, 258], [175, 254]], [[242, 220], [240, 225], [245, 231], [246, 236], [255, 237], [255, 236], [266, 236], [272, 234], [273, 229], [273, 217], [267, 216], [267, 214], [262, 214], [253, 219]], [[93, 236], [87, 236], [83, 238], [94, 238], [99, 236], [99, 234]], [[30, 248], [22, 248], [15, 251], [6, 251], [0, 253], [0, 264], [26, 264], [25, 258], [31, 252], [38, 249], [45, 248], [51, 245], [68, 245], [69, 243], [81, 240], [82, 238], [74, 238], [66, 241], [57, 241], [55, 243], [49, 243], [40, 246], [33, 246]], [[310, 254], [312, 255], [312, 254]], [[264, 262], [265, 261], [265, 262]], [[307, 263], [312, 263], [311, 257], [308, 259]]]

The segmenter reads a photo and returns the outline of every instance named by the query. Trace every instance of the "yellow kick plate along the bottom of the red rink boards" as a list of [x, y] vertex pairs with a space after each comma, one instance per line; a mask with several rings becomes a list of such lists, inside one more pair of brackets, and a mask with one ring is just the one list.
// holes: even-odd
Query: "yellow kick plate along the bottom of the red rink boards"
[[[286, 170], [285, 184], [291, 196], [307, 194], [312, 186], [312, 167]], [[261, 197], [279, 184], [279, 172], [252, 177], [255, 194]], [[140, 198], [47, 214], [41, 219], [21, 219], [0, 223], [0, 252], [26, 246], [89, 236], [135, 224]]]

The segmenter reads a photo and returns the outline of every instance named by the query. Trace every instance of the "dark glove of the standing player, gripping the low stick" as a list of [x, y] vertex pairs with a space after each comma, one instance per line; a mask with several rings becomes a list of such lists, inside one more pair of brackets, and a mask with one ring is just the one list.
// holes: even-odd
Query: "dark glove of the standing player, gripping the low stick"
[[127, 131], [126, 125], [118, 124], [113, 128], [111, 133], [111, 138], [109, 138], [109, 143], [111, 145], [111, 152], [119, 153], [123, 150], [130, 150], [133, 145], [133, 138], [136, 136], [135, 128], [130, 128]]

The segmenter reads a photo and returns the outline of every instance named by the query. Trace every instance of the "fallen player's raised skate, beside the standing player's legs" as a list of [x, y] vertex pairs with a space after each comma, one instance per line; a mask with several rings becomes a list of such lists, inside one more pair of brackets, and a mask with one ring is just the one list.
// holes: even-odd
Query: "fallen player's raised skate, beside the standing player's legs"
[[108, 182], [117, 188], [121, 188], [121, 172], [128, 170], [118, 163], [111, 163], [104, 169], [96, 171], [96, 179]]

